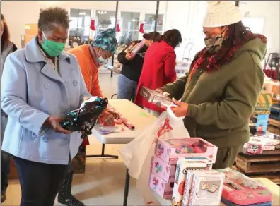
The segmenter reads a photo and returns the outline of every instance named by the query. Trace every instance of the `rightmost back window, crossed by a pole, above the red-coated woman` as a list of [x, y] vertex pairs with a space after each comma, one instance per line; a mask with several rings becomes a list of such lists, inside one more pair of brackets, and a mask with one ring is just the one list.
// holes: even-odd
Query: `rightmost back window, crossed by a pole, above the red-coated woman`
[[[155, 30], [156, 15], [155, 14], [145, 14], [145, 32], [153, 32]], [[156, 26], [156, 31], [163, 34], [163, 14], [158, 14], [158, 25]]]

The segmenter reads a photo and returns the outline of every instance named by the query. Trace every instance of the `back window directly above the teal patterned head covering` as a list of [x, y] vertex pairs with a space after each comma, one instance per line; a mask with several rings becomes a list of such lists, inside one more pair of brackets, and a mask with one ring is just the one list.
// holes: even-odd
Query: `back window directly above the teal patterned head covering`
[[96, 34], [98, 32], [107, 30], [108, 28], [115, 28], [115, 18], [116, 12], [115, 11], [96, 11], [96, 22], [97, 22], [97, 28], [96, 28]]

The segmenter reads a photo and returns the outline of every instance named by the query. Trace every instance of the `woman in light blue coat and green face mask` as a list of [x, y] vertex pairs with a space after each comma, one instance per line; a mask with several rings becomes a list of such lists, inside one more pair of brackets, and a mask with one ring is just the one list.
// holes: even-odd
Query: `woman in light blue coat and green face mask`
[[8, 114], [2, 150], [13, 155], [21, 182], [21, 206], [51, 206], [78, 152], [81, 133], [59, 122], [77, 109], [86, 90], [76, 58], [64, 52], [69, 13], [40, 12], [38, 35], [8, 55], [1, 83], [1, 108]]

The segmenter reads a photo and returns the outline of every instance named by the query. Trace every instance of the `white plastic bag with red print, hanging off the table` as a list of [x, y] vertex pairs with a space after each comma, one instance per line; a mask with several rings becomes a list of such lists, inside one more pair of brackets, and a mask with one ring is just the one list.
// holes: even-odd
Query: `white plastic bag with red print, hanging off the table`
[[[173, 105], [172, 107], [175, 106]], [[138, 179], [142, 170], [146, 170], [146, 166], [150, 166], [149, 164], [151, 162], [151, 156], [155, 151], [157, 138], [189, 137], [189, 133], [182, 119], [173, 114], [170, 106], [151, 126], [145, 128], [143, 133], [119, 150], [119, 153], [124, 159], [124, 164], [129, 169], [129, 175], [132, 178]], [[144, 162], [146, 164], [145, 168], [143, 168]], [[148, 185], [148, 177], [145, 183]]]

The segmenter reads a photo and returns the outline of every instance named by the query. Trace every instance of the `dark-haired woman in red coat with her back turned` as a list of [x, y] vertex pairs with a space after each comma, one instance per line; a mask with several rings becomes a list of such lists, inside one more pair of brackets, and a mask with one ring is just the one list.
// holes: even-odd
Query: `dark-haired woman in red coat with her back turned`
[[176, 79], [176, 54], [174, 49], [181, 42], [182, 37], [178, 30], [168, 30], [148, 48], [145, 54], [135, 103], [155, 116], [159, 116], [163, 109], [148, 103], [144, 97], [139, 95], [139, 90], [141, 90], [141, 87], [156, 90], [165, 84], [173, 83]]

